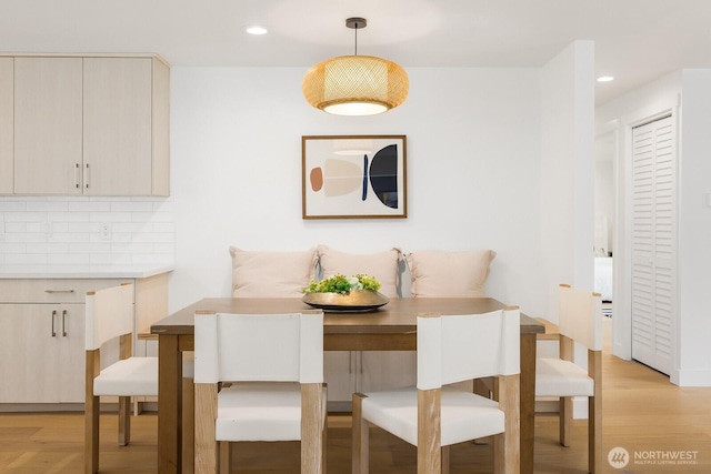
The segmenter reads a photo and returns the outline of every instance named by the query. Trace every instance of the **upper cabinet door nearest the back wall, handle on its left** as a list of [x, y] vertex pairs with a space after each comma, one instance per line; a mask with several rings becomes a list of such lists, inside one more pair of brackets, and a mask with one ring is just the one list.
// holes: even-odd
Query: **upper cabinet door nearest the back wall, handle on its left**
[[83, 193], [150, 195], [152, 61], [83, 61]]

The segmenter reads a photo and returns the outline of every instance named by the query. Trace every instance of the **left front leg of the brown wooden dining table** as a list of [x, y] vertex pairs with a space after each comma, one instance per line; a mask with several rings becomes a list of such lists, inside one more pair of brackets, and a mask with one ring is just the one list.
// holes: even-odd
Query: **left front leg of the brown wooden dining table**
[[182, 354], [177, 334], [158, 336], [158, 473], [182, 472]]

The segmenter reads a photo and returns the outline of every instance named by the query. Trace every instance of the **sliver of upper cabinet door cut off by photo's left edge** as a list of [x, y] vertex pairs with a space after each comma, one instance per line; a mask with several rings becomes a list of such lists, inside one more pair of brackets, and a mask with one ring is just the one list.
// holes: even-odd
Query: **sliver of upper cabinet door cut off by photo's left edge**
[[0, 194], [13, 190], [14, 168], [14, 67], [12, 58], [0, 58]]

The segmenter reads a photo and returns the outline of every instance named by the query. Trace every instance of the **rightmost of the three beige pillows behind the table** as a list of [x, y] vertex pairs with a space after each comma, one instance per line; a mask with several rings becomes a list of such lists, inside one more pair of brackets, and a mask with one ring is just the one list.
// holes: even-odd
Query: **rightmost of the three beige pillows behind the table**
[[412, 275], [413, 297], [485, 296], [492, 250], [474, 252], [422, 251], [405, 255]]

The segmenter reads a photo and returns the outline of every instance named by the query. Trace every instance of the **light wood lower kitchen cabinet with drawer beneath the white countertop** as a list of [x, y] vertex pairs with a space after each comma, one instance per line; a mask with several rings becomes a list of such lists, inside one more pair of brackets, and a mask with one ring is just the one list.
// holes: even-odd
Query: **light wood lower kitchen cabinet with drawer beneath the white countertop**
[[0, 411], [84, 402], [84, 297], [88, 291], [121, 283], [134, 284], [137, 326], [150, 326], [167, 315], [167, 273], [140, 279], [0, 279]]

